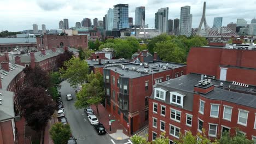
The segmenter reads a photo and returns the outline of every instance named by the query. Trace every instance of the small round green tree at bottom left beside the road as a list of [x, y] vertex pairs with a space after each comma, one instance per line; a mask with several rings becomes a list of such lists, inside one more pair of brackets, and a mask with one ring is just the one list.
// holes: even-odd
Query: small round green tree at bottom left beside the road
[[67, 144], [71, 135], [69, 124], [55, 123], [50, 129], [51, 139], [55, 144]]

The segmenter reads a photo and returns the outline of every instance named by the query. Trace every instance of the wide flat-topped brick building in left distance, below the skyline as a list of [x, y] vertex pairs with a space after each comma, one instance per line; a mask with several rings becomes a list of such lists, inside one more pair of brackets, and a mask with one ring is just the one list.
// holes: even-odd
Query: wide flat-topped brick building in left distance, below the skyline
[[37, 38], [37, 49], [48, 50], [54, 47], [70, 46], [74, 48], [82, 47], [82, 49], [88, 48], [87, 35], [54, 35], [45, 34], [39, 35]]

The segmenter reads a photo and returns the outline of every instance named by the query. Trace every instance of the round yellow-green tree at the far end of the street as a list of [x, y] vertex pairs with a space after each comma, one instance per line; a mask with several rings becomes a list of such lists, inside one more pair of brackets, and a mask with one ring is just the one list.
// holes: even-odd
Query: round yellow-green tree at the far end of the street
[[87, 80], [89, 67], [86, 61], [73, 57], [64, 66], [66, 69], [60, 68], [61, 77], [67, 79], [72, 87], [82, 85]]

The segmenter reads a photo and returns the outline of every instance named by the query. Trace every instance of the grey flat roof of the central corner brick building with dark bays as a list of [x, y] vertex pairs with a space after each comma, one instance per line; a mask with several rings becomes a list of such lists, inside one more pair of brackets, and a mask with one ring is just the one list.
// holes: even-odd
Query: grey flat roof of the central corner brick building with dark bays
[[[116, 71], [121, 75], [121, 77], [129, 77], [130, 79], [141, 77], [150, 74], [161, 73], [162, 71], [167, 71], [170, 69], [175, 69], [179, 67], [184, 67], [186, 64], [179, 64], [179, 63], [171, 63], [171, 62], [163, 62], [163, 61], [156, 61], [149, 62], [142, 64], [134, 64], [134, 63], [127, 63], [122, 65], [106, 65], [104, 69], [109, 69]], [[147, 71], [147, 73], [144, 73]]]

